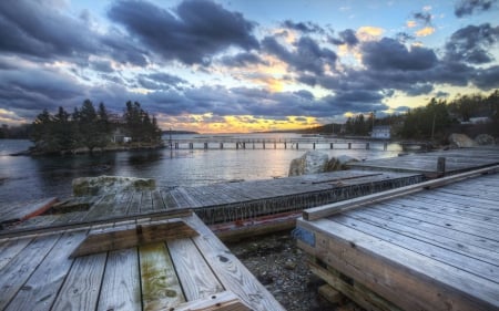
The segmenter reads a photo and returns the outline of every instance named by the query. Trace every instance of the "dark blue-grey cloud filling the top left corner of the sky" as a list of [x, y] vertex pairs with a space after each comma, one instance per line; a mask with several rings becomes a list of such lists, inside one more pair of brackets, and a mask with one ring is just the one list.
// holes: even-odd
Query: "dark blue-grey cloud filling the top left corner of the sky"
[[83, 21], [62, 15], [42, 1], [0, 1], [0, 52], [35, 58], [71, 56], [98, 50]]

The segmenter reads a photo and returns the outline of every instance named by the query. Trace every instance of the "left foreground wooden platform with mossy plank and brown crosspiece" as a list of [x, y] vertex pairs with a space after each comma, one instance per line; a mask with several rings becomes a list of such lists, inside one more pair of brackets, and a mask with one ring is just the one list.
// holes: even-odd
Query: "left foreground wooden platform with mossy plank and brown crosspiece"
[[0, 238], [0, 310], [284, 310], [193, 214]]

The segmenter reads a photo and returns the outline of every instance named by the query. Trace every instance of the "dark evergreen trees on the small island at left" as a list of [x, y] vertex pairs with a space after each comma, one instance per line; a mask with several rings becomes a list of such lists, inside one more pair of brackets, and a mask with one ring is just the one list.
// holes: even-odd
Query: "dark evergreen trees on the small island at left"
[[68, 113], [59, 107], [55, 114], [43, 110], [32, 124], [31, 141], [34, 149], [42, 153], [60, 153], [86, 147], [90, 152], [109, 146], [113, 133], [120, 131], [136, 143], [157, 144], [161, 129], [156, 118], [150, 117], [138, 102], [126, 102], [124, 114], [119, 120], [111, 120], [103, 103], [98, 108], [90, 100], [81, 107]]

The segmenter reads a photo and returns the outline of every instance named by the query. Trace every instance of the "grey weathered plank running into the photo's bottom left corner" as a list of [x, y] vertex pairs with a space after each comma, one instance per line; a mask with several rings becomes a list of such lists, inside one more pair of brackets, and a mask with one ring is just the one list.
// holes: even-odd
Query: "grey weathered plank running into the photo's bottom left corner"
[[0, 270], [0, 309], [3, 310], [37, 269], [38, 263], [52, 249], [59, 235], [40, 237], [22, 249]]

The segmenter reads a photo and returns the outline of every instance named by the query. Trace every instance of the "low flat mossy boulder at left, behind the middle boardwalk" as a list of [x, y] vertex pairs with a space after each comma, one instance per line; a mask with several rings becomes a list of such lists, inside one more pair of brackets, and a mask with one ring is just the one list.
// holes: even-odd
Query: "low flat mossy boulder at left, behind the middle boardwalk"
[[156, 183], [151, 178], [121, 176], [80, 177], [73, 179], [74, 196], [98, 196], [129, 190], [154, 190]]

